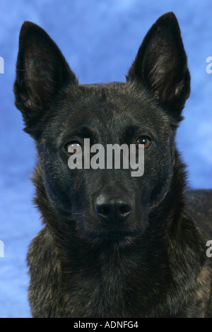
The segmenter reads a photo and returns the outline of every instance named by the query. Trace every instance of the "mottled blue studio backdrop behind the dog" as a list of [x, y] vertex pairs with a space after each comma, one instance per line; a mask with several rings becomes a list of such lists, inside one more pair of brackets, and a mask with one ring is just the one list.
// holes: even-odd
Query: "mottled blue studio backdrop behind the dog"
[[[33, 207], [30, 176], [35, 147], [14, 106], [18, 35], [24, 20], [44, 28], [64, 53], [80, 83], [124, 81], [144, 35], [167, 11], [179, 20], [192, 74], [192, 94], [177, 133], [189, 185], [212, 188], [211, 0], [0, 0], [1, 198], [0, 317], [30, 317], [25, 256], [39, 215]], [[2, 65], [2, 61], [1, 61]], [[2, 242], [0, 253], [2, 253]], [[2, 254], [0, 255], [2, 256]]]

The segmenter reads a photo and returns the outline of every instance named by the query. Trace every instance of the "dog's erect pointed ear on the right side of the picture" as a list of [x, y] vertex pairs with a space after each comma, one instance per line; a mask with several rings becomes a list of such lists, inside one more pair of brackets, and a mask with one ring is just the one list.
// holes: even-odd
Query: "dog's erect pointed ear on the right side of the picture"
[[144, 38], [127, 81], [144, 85], [179, 120], [190, 93], [190, 75], [177, 18], [160, 16]]

